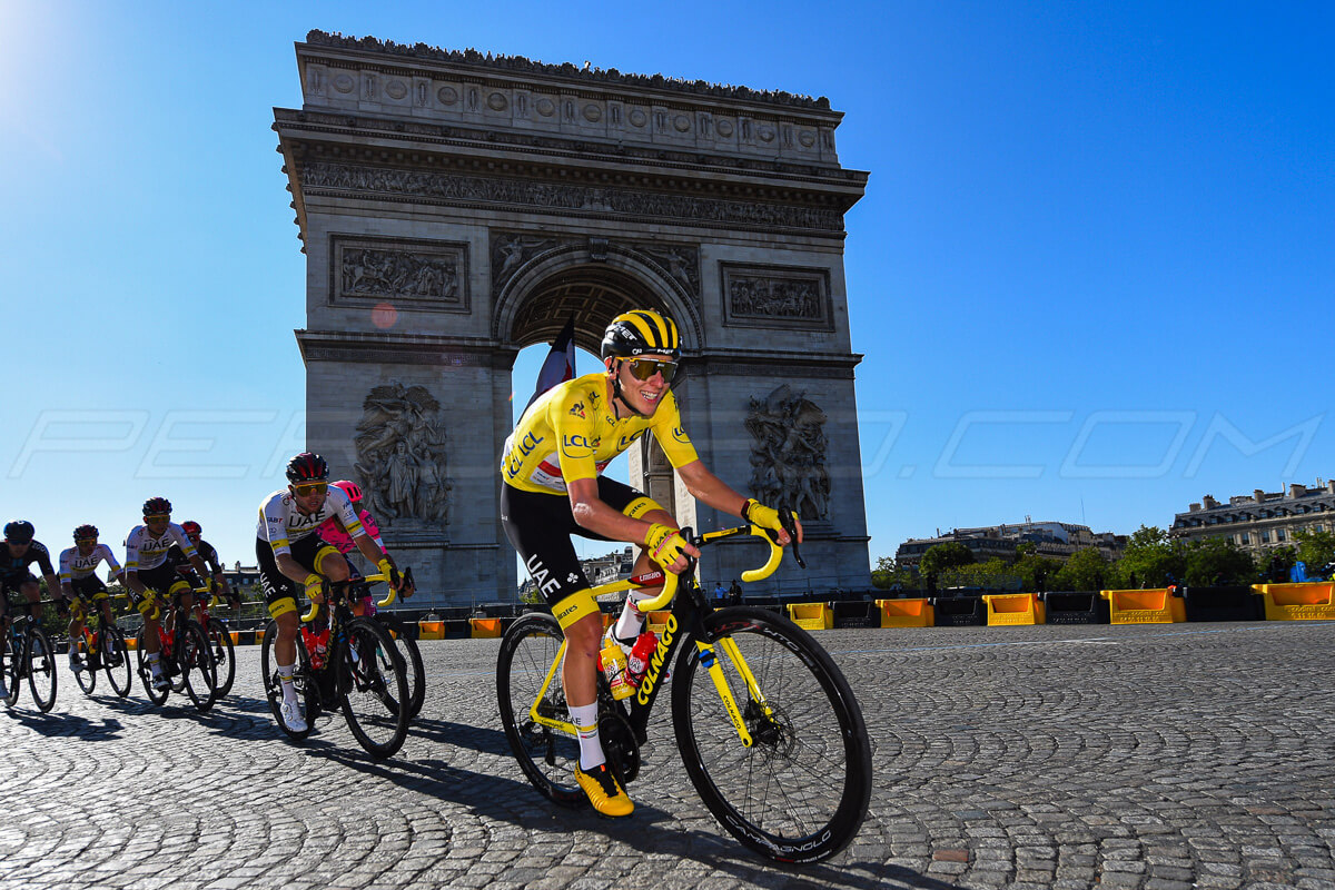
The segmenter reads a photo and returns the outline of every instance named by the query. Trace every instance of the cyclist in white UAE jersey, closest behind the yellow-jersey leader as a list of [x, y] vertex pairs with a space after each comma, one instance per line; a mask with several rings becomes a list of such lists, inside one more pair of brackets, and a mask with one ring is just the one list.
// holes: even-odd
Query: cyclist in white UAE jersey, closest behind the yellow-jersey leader
[[290, 730], [304, 733], [302, 714], [292, 677], [296, 673], [296, 632], [300, 615], [296, 598], [304, 591], [312, 602], [323, 600], [326, 580], [348, 578], [348, 562], [335, 547], [324, 543], [316, 530], [330, 518], [338, 518], [348, 536], [371, 563], [390, 578], [390, 586], [399, 590], [399, 576], [390, 555], [375, 543], [362, 527], [352, 502], [342, 488], [328, 484], [330, 468], [318, 454], [302, 452], [287, 462], [287, 488], [279, 488], [259, 506], [259, 526], [255, 530], [255, 558], [259, 562], [259, 582], [268, 603], [268, 614], [278, 623], [274, 639], [274, 660], [283, 689], [279, 715]]

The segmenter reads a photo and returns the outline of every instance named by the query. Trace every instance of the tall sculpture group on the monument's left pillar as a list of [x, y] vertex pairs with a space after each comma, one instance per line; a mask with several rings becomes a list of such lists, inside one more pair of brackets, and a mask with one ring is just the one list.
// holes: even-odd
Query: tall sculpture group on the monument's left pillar
[[356, 424], [356, 474], [371, 512], [384, 524], [449, 523], [446, 434], [441, 403], [426, 387], [378, 386]]

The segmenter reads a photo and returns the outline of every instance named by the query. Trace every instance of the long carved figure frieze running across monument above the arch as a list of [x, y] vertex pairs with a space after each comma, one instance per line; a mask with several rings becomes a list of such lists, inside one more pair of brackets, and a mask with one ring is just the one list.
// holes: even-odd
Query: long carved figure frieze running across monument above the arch
[[302, 185], [307, 193], [344, 192], [426, 203], [511, 205], [563, 215], [589, 212], [603, 216], [649, 217], [655, 221], [672, 219], [709, 226], [797, 228], [825, 232], [844, 230], [842, 213], [814, 207], [669, 195], [630, 188], [557, 184], [499, 176], [462, 176], [334, 161], [303, 164]]

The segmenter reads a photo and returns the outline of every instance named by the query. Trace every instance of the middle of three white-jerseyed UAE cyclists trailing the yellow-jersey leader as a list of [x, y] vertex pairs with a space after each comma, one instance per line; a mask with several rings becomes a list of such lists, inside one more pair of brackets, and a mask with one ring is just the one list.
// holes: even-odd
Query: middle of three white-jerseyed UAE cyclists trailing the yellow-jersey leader
[[[171, 520], [171, 502], [166, 498], [150, 498], [144, 502], [144, 524], [135, 526], [125, 536], [125, 586], [129, 587], [135, 607], [144, 616], [144, 632], [139, 642], [147, 654], [148, 670], [152, 671], [155, 690], [166, 690], [171, 681], [162, 669], [162, 639], [158, 630], [163, 612], [171, 618], [171, 600], [179, 599], [186, 610], [195, 606], [195, 587], [203, 586], [199, 578], [178, 574], [175, 563], [168, 559], [172, 546], [180, 547], [186, 559], [199, 575], [204, 574], [204, 560], [195, 552], [195, 546], [186, 536], [186, 530]], [[167, 599], [167, 608], [158, 595]]]

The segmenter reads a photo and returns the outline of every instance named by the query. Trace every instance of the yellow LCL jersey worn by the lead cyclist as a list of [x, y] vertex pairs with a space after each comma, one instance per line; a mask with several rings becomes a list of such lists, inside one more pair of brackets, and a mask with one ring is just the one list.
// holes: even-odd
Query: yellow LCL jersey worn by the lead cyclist
[[525, 412], [501, 456], [501, 478], [521, 491], [566, 494], [573, 479], [594, 479], [635, 439], [653, 431], [674, 467], [698, 460], [681, 427], [672, 390], [651, 418], [615, 419], [607, 378], [586, 374], [542, 394]]

